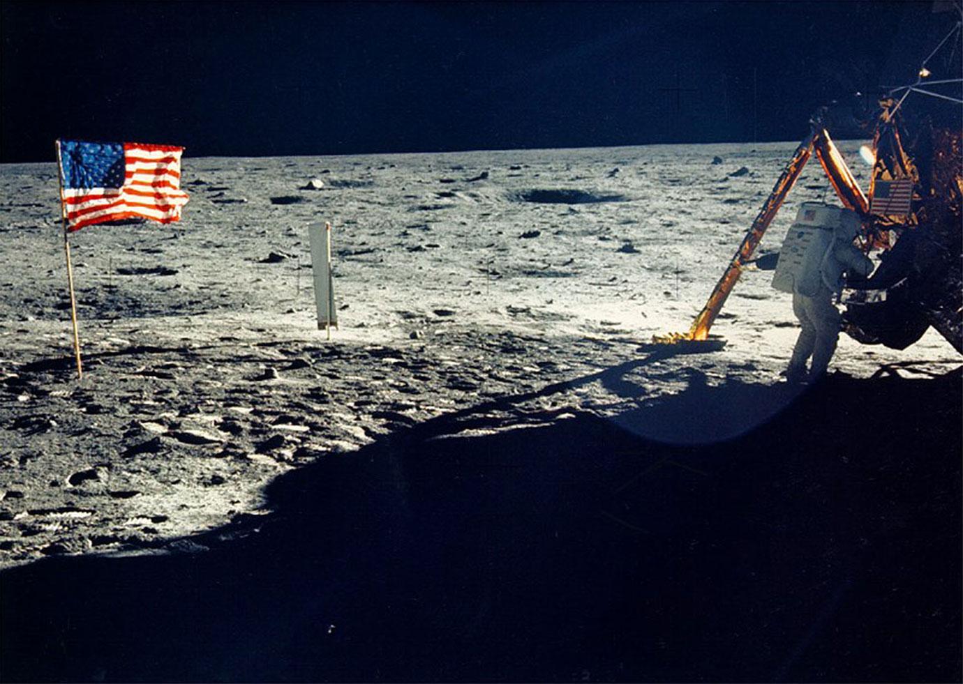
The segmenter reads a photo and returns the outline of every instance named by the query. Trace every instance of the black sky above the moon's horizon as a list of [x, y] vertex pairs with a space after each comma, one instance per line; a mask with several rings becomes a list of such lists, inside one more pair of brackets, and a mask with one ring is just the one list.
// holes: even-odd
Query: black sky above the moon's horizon
[[0, 13], [2, 162], [46, 161], [57, 138], [196, 156], [794, 140], [820, 104], [908, 83], [954, 22], [928, 1]]

